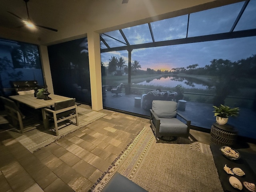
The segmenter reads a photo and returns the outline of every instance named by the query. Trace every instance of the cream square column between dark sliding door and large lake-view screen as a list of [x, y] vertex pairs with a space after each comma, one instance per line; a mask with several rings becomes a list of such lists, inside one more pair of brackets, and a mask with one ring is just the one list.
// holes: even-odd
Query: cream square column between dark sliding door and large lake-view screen
[[98, 111], [103, 109], [101, 65], [100, 65], [100, 34], [96, 32], [88, 32], [87, 38], [88, 38], [92, 110]]

